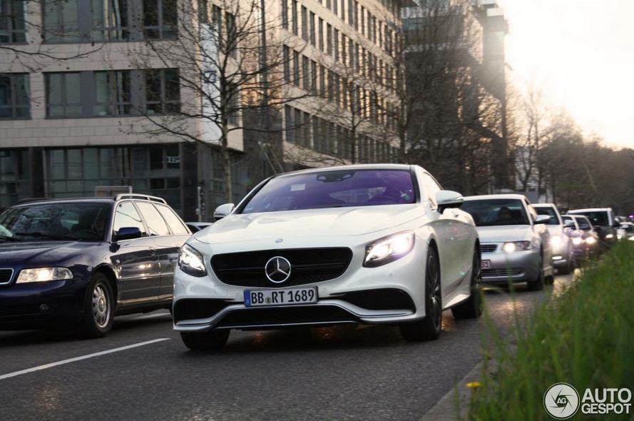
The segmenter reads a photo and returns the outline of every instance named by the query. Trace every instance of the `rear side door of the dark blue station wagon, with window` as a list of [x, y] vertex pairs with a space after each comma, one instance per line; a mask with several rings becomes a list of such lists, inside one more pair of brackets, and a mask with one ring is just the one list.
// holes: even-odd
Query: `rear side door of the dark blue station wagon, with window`
[[168, 206], [145, 201], [137, 202], [137, 206], [148, 224], [150, 236], [158, 251], [160, 263], [158, 296], [161, 300], [171, 298], [180, 246], [189, 238], [190, 232]]

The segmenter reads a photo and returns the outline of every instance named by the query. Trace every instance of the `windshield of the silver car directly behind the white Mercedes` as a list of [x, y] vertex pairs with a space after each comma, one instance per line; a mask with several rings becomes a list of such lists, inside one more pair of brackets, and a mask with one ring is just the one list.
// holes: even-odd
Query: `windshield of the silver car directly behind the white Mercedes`
[[522, 201], [518, 199], [481, 199], [464, 201], [461, 209], [471, 213], [476, 226], [528, 225]]

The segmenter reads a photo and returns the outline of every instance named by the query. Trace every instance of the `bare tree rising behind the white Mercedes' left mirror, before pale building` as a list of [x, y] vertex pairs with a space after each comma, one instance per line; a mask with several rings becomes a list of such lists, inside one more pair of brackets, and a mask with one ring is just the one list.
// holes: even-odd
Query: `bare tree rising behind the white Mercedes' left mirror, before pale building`
[[168, 115], [139, 110], [146, 124], [131, 130], [218, 148], [227, 201], [232, 201], [232, 133], [280, 132], [275, 113], [307, 96], [290, 86], [284, 72], [292, 60], [289, 51], [301, 51], [303, 44], [282, 39], [285, 21], [270, 16], [264, 6], [261, 0], [178, 2], [178, 38], [144, 41], [131, 51], [138, 69], [178, 68], [170, 88], [181, 101]]

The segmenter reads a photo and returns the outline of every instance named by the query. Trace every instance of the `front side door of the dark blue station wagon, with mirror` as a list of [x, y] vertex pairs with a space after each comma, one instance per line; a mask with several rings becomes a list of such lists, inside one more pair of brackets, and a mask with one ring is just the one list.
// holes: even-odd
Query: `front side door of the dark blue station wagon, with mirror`
[[[118, 230], [124, 227], [136, 227], [142, 236], [116, 240]], [[155, 300], [160, 285], [158, 253], [133, 201], [123, 201], [117, 205], [113, 238], [116, 240], [112, 260], [118, 270], [118, 301], [125, 306]]]

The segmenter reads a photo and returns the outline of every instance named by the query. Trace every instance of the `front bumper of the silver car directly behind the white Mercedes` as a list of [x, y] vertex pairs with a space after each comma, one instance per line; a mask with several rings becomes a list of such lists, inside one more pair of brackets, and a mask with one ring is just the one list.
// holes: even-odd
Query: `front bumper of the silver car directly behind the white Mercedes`
[[[483, 243], [484, 245], [484, 243]], [[498, 244], [496, 251], [482, 253], [482, 260], [489, 260], [490, 267], [483, 268], [484, 283], [520, 283], [534, 280], [539, 275], [539, 250], [514, 251], [505, 253]]]

